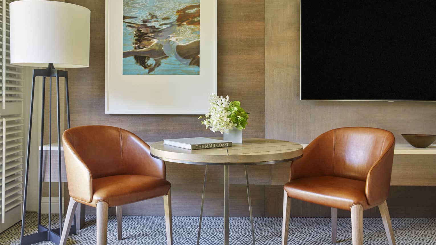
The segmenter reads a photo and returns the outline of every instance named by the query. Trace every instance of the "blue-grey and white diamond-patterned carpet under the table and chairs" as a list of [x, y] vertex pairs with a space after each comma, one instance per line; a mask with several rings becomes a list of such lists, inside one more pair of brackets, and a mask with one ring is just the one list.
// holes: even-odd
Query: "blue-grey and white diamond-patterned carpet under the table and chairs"
[[[27, 213], [26, 230], [36, 231], [37, 214]], [[48, 215], [43, 215], [47, 223]], [[52, 222], [56, 225], [55, 215]], [[198, 217], [173, 217], [174, 245], [195, 245]], [[223, 244], [223, 218], [204, 217], [201, 228], [203, 245]], [[258, 245], [279, 245], [282, 218], [255, 218], [255, 236]], [[436, 218], [392, 218], [397, 245], [436, 245]], [[0, 244], [20, 244], [20, 226], [15, 224], [0, 234]], [[291, 218], [288, 245], [331, 244], [330, 218]], [[123, 240], [116, 235], [116, 218], [109, 217], [108, 244], [166, 245], [165, 219], [158, 216], [123, 216]], [[230, 218], [230, 244], [251, 245], [250, 218]], [[51, 242], [38, 243], [50, 244]], [[67, 244], [95, 244], [95, 216], [86, 216], [85, 228], [68, 238]], [[337, 244], [352, 245], [351, 219], [339, 218]], [[364, 218], [364, 245], [388, 245], [381, 218]]]

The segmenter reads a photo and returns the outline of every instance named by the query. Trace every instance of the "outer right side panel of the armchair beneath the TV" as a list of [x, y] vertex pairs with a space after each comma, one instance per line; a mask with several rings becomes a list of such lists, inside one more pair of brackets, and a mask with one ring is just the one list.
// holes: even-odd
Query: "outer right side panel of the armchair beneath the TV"
[[[393, 137], [393, 136], [392, 136]], [[395, 138], [387, 150], [368, 171], [365, 195], [368, 205], [377, 205], [388, 198], [394, 161]]]

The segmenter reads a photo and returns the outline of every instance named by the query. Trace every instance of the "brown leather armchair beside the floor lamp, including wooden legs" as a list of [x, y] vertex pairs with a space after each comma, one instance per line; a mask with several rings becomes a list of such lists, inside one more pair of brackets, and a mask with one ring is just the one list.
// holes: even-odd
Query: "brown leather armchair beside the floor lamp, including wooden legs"
[[171, 184], [165, 163], [135, 134], [109, 126], [70, 128], [63, 134], [70, 202], [61, 245], [65, 245], [78, 203], [97, 208], [97, 245], [106, 245], [108, 208], [116, 207], [118, 240], [122, 205], [164, 196], [167, 243], [172, 245]]

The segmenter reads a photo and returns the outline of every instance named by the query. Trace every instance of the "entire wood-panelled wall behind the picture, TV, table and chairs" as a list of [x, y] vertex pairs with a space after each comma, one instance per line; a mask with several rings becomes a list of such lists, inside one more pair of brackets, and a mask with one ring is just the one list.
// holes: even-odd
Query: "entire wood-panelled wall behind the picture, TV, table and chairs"
[[[90, 67], [69, 69], [72, 126], [106, 124], [126, 128], [144, 141], [217, 136], [197, 115], [104, 114], [105, 1], [66, 0], [91, 10]], [[218, 94], [240, 100], [249, 111], [246, 137], [309, 143], [331, 128], [372, 126], [394, 132], [436, 133], [432, 103], [299, 100], [299, 0], [218, 0]], [[188, 99], [188, 98], [187, 98]], [[281, 216], [283, 184], [290, 163], [252, 166], [255, 216]], [[173, 215], [199, 215], [204, 166], [167, 163]], [[221, 216], [223, 168], [209, 168], [204, 215]], [[248, 216], [243, 168], [230, 168], [230, 215]], [[434, 187], [393, 186], [388, 199], [392, 217], [436, 217]], [[95, 213], [87, 208], [87, 213]], [[293, 200], [292, 216], [328, 217], [330, 209]], [[114, 214], [114, 210], [111, 211]], [[124, 208], [126, 215], [164, 215], [163, 198]], [[339, 216], [349, 212], [340, 211]], [[379, 217], [377, 209], [365, 216]]]

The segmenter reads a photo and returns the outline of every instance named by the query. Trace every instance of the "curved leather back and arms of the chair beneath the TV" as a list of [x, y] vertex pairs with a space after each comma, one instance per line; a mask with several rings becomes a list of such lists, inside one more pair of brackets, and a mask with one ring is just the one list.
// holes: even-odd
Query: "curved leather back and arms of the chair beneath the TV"
[[366, 181], [368, 203], [387, 198], [391, 182], [395, 137], [384, 129], [349, 127], [321, 134], [294, 161], [290, 180], [335, 176]]

